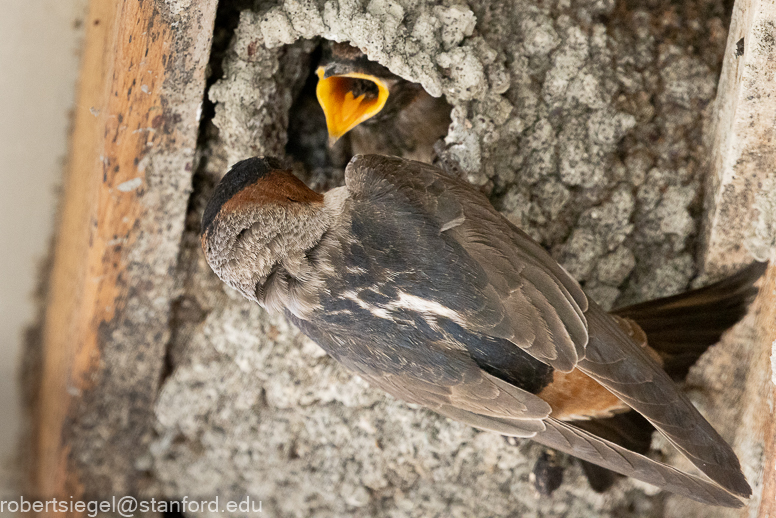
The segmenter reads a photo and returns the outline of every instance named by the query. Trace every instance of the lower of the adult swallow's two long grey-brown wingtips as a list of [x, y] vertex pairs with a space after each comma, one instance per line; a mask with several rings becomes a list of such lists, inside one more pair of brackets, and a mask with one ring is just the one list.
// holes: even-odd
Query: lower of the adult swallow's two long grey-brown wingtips
[[626, 450], [571, 424], [549, 418], [545, 425], [545, 431], [532, 437], [540, 444], [698, 502], [724, 507], [744, 505], [735, 495], [711, 482]]

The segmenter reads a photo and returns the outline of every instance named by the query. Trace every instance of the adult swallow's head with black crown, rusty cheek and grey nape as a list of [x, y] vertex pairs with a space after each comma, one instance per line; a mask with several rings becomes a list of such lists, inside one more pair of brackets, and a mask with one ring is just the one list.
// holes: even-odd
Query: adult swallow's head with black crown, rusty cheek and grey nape
[[202, 250], [213, 271], [262, 302], [278, 266], [298, 264], [326, 230], [323, 196], [275, 158], [238, 162], [216, 186], [202, 216]]

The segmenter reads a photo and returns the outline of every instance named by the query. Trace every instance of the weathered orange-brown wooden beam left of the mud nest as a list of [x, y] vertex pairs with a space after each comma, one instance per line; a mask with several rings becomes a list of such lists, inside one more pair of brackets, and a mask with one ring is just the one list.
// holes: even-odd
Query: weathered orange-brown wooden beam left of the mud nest
[[142, 492], [216, 4], [90, 3], [34, 417], [39, 497]]

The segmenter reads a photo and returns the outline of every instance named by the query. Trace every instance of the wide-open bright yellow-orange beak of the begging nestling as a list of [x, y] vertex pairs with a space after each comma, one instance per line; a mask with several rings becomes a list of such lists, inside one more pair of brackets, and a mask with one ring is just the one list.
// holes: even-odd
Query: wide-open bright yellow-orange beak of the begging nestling
[[330, 146], [348, 131], [377, 115], [388, 100], [388, 85], [375, 76], [350, 72], [324, 77], [324, 67], [319, 67], [317, 74], [316, 94], [326, 116]]

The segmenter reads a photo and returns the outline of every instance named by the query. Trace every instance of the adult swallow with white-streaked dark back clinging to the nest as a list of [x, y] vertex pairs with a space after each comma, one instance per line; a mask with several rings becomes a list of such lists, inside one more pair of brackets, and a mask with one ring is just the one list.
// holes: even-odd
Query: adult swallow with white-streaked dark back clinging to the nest
[[[397, 398], [700, 502], [743, 505], [751, 490], [736, 455], [645, 345], [638, 306], [627, 318], [604, 312], [487, 198], [440, 169], [356, 156], [345, 180], [318, 194], [276, 159], [236, 164], [202, 219], [211, 268]], [[751, 291], [761, 271], [733, 284]], [[644, 314], [659, 329], [663, 307], [681, 325], [689, 301], [697, 319], [693, 301], [724, 291], [705, 290]], [[630, 409], [713, 482], [568, 422]]]

